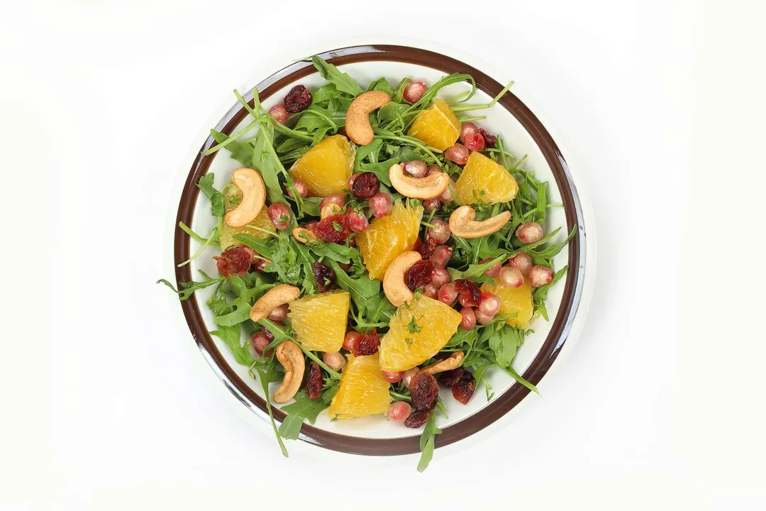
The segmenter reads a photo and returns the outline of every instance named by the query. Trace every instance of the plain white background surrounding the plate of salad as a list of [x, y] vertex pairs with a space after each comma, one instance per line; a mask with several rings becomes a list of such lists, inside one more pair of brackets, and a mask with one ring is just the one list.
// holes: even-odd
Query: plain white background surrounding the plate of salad
[[[0, 508], [763, 509], [763, 9], [300, 3], [3, 6]], [[566, 364], [424, 474], [296, 442], [283, 459], [154, 284], [231, 89], [370, 42], [516, 80], [596, 217]]]

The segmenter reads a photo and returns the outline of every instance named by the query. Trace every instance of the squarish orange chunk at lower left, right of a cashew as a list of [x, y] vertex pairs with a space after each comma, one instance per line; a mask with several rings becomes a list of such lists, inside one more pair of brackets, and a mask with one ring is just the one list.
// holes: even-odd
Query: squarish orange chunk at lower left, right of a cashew
[[336, 352], [343, 346], [345, 326], [349, 322], [349, 293], [332, 291], [304, 296], [290, 303], [290, 320], [295, 339], [306, 348]]

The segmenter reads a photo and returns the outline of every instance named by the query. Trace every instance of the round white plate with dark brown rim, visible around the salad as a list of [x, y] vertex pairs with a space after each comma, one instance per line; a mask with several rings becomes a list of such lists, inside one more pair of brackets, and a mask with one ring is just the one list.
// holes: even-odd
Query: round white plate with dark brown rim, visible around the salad
[[[319, 54], [326, 61], [335, 64], [340, 70], [349, 73], [365, 87], [375, 78], [385, 76], [391, 84], [397, 84], [402, 77], [424, 80], [433, 84], [444, 74], [454, 72], [467, 73], [476, 80], [477, 92], [472, 103], [488, 103], [499, 93], [503, 86], [493, 78], [468, 64], [457, 61], [443, 54], [414, 47], [375, 45], [345, 47], [339, 50]], [[296, 84], [303, 84], [309, 89], [326, 83], [310, 62], [296, 62], [277, 71], [277, 73], [257, 84], [260, 100], [266, 109], [280, 103], [287, 91]], [[440, 91], [440, 97], [453, 97], [468, 84], [453, 84]], [[254, 90], [244, 95], [252, 105]], [[506, 93], [495, 106], [482, 110], [486, 120], [482, 126], [489, 127], [491, 133], [501, 133], [509, 146], [509, 152], [515, 156], [527, 155], [523, 168], [534, 170], [538, 179], [548, 181], [549, 204], [561, 204], [561, 208], [550, 208], [545, 222], [545, 232], [561, 227], [552, 241], [561, 241], [572, 228], [577, 228], [575, 237], [568, 247], [554, 258], [555, 269], [568, 265], [565, 279], [560, 280], [548, 293], [546, 306], [549, 321], [538, 317], [530, 326], [535, 332], [526, 337], [514, 359], [513, 367], [529, 382], [537, 385], [555, 362], [561, 349], [567, 342], [569, 333], [578, 314], [585, 285], [586, 244], [583, 208], [575, 183], [571, 179], [568, 165], [558, 146], [542, 123], [513, 93]], [[247, 111], [235, 104], [218, 122], [214, 129], [227, 135], [236, 133], [247, 124]], [[214, 219], [210, 215], [208, 202], [198, 200], [199, 190], [196, 183], [208, 172], [215, 174], [215, 186], [221, 188], [231, 178], [231, 171], [241, 166], [228, 156], [228, 152], [214, 152], [204, 156], [205, 151], [214, 145], [208, 136], [202, 143], [198, 156], [191, 165], [181, 201], [178, 205], [177, 221], [183, 221], [194, 231], [210, 232]], [[199, 244], [178, 229], [175, 235], [175, 264], [187, 260], [198, 251]], [[216, 274], [212, 255], [218, 249], [208, 248], [191, 264], [176, 269], [176, 280], [188, 282], [198, 270]], [[237, 364], [234, 356], [220, 339], [211, 336], [210, 330], [216, 328], [213, 314], [205, 306], [210, 289], [195, 293], [191, 299], [181, 302], [185, 319], [199, 349], [208, 360], [211, 368], [218, 374], [231, 392], [257, 415], [268, 421], [266, 401], [260, 383], [250, 378], [247, 368]], [[451, 398], [448, 389], [442, 389], [442, 399], [447, 408], [448, 419], [437, 414], [437, 426], [443, 433], [437, 436], [436, 446], [442, 447], [475, 434], [498, 421], [519, 404], [530, 393], [529, 389], [519, 385], [509, 375], [498, 368], [485, 373], [492, 385], [492, 398], [483, 386], [477, 388], [468, 405], [460, 405]], [[272, 384], [274, 387], [278, 384]], [[274, 408], [277, 421], [284, 414]], [[300, 439], [311, 444], [332, 450], [366, 455], [398, 455], [419, 452], [421, 430], [408, 429], [399, 423], [382, 420], [380, 416], [357, 418], [349, 421], [329, 421], [326, 412], [322, 412], [316, 424], [304, 424]]]

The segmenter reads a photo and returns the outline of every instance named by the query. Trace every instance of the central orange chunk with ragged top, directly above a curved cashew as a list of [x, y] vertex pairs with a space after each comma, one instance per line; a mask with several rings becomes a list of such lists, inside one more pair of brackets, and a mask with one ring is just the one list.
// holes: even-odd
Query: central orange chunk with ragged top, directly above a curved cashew
[[388, 216], [375, 218], [364, 232], [356, 235], [356, 244], [362, 251], [370, 277], [382, 279], [396, 256], [412, 250], [421, 228], [421, 218], [423, 206], [405, 208], [397, 202]]

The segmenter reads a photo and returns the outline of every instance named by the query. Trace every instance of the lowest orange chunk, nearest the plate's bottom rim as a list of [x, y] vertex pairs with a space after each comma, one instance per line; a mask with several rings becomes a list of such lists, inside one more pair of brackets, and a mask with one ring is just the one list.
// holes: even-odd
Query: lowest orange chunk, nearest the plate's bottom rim
[[389, 385], [383, 378], [377, 353], [358, 357], [349, 354], [338, 393], [327, 409], [330, 418], [347, 419], [385, 413], [391, 403]]

